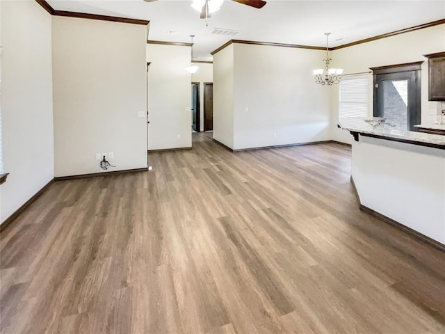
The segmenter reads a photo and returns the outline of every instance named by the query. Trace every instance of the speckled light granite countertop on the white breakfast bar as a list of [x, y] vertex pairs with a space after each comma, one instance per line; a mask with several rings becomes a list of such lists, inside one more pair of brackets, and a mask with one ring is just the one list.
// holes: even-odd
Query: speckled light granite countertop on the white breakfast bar
[[425, 132], [414, 132], [401, 129], [394, 129], [389, 125], [382, 123], [373, 127], [365, 122], [362, 118], [347, 118], [340, 122], [340, 126], [344, 130], [350, 132], [359, 132], [362, 134], [371, 134], [375, 136], [398, 139], [399, 141], [412, 141], [418, 143], [427, 143], [432, 145], [444, 146], [445, 136], [439, 134], [427, 134]]

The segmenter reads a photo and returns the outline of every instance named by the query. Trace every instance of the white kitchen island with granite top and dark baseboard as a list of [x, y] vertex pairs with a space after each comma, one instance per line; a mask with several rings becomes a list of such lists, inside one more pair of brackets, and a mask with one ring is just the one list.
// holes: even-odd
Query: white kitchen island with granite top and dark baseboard
[[445, 136], [342, 120], [354, 136], [352, 175], [359, 204], [445, 250]]

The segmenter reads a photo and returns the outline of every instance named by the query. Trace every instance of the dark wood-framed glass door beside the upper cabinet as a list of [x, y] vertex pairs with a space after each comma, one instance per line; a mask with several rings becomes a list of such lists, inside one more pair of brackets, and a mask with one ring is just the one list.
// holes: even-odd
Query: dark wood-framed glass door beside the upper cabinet
[[374, 116], [386, 118], [396, 129], [414, 131], [420, 124], [421, 63], [373, 67]]

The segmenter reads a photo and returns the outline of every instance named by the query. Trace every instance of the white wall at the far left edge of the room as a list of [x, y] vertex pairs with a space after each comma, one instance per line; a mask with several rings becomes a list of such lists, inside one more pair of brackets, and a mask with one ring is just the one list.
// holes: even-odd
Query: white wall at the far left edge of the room
[[1, 1], [3, 167], [0, 221], [54, 177], [51, 15], [35, 1]]

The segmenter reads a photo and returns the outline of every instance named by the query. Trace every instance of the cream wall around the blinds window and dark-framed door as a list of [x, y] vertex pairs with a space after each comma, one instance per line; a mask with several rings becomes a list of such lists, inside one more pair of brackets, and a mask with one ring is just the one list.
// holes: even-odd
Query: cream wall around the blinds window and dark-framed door
[[[332, 52], [331, 56], [344, 73], [369, 71], [369, 67], [411, 63], [425, 61], [421, 67], [421, 122], [433, 124], [436, 116], [430, 115], [430, 109], [437, 109], [437, 102], [428, 102], [428, 61], [423, 54], [432, 54], [445, 49], [445, 24], [431, 28], [402, 33], [389, 38], [382, 38], [353, 47], [346, 47]], [[373, 116], [372, 75], [369, 90], [369, 116]], [[338, 118], [338, 86], [332, 94], [332, 139], [344, 143], [351, 143], [352, 136], [346, 131], [337, 129]]]

